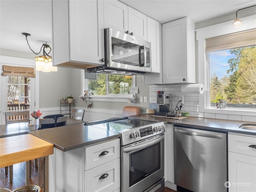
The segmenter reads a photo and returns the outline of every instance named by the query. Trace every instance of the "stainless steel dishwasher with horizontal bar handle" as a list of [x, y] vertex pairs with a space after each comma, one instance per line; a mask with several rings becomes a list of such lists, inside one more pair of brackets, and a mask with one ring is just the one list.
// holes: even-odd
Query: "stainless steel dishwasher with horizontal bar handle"
[[194, 192], [227, 192], [226, 138], [223, 132], [174, 126], [174, 183]]

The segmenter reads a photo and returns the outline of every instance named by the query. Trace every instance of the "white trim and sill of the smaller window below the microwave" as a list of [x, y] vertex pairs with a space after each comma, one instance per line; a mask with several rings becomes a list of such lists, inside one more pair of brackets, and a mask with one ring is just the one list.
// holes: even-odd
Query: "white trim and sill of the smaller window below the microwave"
[[[88, 90], [87, 79], [84, 79], [84, 70], [81, 70], [81, 96], [84, 94], [84, 90]], [[136, 76], [132, 77], [132, 86], [136, 86]], [[93, 101], [106, 101], [106, 102], [128, 102], [128, 98], [132, 98], [132, 94], [127, 95], [108, 95], [108, 96], [92, 96]]]

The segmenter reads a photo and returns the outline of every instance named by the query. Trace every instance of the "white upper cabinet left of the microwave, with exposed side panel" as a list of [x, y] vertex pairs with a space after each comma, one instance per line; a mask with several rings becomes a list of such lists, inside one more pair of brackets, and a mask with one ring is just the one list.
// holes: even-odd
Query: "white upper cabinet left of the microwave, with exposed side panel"
[[104, 62], [102, 0], [53, 0], [54, 65], [89, 68]]

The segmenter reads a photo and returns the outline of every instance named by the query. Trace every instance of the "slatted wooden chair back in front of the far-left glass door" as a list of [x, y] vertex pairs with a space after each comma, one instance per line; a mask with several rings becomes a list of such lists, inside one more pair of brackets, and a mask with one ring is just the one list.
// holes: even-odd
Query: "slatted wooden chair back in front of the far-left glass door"
[[5, 123], [28, 122], [30, 111], [5, 112]]

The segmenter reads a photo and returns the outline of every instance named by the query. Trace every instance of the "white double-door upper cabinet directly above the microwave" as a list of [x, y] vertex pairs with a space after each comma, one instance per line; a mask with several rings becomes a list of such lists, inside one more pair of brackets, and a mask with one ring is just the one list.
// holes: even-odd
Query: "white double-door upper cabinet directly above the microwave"
[[104, 28], [147, 40], [147, 16], [117, 0], [104, 0]]

